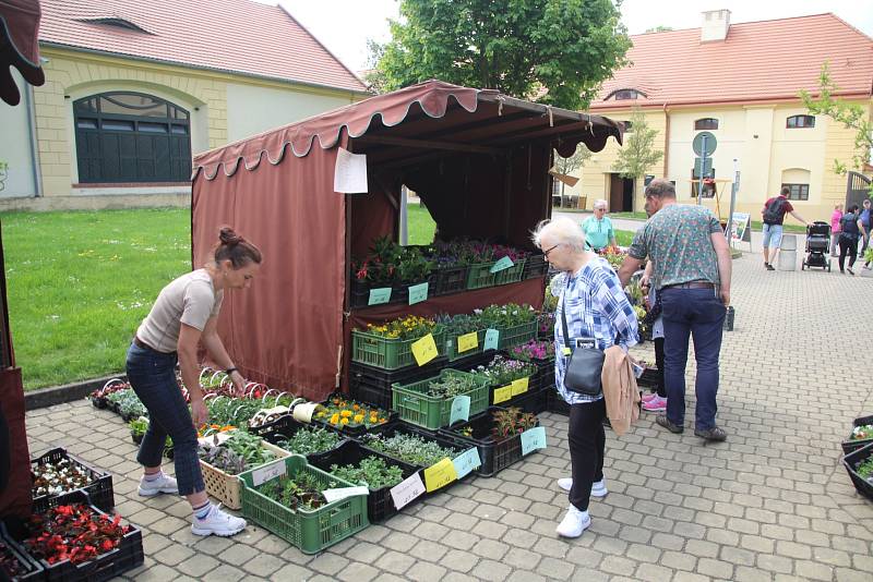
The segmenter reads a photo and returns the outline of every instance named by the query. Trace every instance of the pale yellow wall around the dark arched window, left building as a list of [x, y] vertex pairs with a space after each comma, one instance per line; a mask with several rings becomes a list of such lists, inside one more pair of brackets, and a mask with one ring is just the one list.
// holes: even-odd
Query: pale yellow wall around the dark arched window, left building
[[[298, 118], [274, 117], [275, 125], [311, 114], [314, 102], [323, 101], [322, 111], [337, 104], [349, 104], [361, 96], [344, 90], [321, 89], [302, 85], [249, 78], [214, 71], [200, 71], [163, 63], [128, 60], [74, 50], [41, 47], [46, 83], [34, 88], [36, 138], [45, 196], [79, 194], [75, 157], [73, 101], [106, 90], [137, 90], [155, 95], [188, 109], [191, 113], [191, 150], [196, 153], [223, 146], [232, 138], [243, 137], [238, 131], [231, 136], [228, 124], [228, 85], [246, 87], [249, 97], [256, 99], [259, 89], [274, 96], [277, 90], [299, 94], [306, 104]], [[241, 112], [235, 112], [239, 118]], [[119, 192], [123, 194], [125, 192]]]

